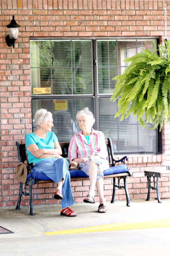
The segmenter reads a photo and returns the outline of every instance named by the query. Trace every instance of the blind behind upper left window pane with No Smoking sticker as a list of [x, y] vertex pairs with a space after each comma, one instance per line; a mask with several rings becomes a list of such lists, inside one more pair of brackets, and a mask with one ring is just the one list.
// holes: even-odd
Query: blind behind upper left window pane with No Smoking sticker
[[91, 40], [31, 41], [31, 88], [52, 95], [93, 94]]

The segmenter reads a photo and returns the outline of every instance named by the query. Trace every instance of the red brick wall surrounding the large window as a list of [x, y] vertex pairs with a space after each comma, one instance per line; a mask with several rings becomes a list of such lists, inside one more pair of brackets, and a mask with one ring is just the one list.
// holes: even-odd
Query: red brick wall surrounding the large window
[[[30, 54], [31, 37], [131, 37], [164, 36], [164, 3], [157, 0], [0, 0], [0, 207], [17, 204], [19, 183], [16, 141], [24, 142], [31, 132]], [[12, 15], [20, 32], [15, 48], [7, 47], [6, 25]], [[167, 1], [169, 35], [170, 1]], [[147, 197], [144, 170], [165, 170], [170, 161], [170, 127], [162, 131], [163, 154], [129, 156], [133, 177], [128, 179], [131, 199]], [[162, 177], [161, 197], [170, 196], [170, 178]], [[88, 181], [72, 182], [76, 202], [88, 192]], [[105, 180], [105, 196], [111, 199], [112, 181]], [[34, 204], [54, 204], [55, 185], [38, 185]], [[152, 192], [151, 197], [156, 197]], [[125, 200], [124, 191], [116, 191], [116, 200]], [[22, 204], [29, 204], [24, 197]]]

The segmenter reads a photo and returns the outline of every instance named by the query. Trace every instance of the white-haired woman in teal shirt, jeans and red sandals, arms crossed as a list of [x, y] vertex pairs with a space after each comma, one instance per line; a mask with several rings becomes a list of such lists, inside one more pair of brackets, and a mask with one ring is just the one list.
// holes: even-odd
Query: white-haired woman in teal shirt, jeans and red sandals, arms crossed
[[28, 162], [34, 163], [32, 171], [42, 172], [57, 183], [54, 198], [62, 200], [60, 214], [68, 217], [77, 216], [77, 213], [69, 207], [74, 204], [74, 199], [71, 192], [68, 162], [61, 157], [62, 150], [57, 136], [51, 131], [53, 127], [52, 114], [45, 109], [37, 110], [34, 121], [37, 129], [26, 135]]

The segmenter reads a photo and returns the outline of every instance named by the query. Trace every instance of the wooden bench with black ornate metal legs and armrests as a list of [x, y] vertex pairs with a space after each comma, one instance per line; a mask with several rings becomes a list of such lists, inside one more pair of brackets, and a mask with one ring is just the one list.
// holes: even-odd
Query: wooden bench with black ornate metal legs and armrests
[[[119, 163], [119, 162], [125, 164], [125, 160], [127, 160], [126, 156], [122, 157], [120, 160], [114, 159], [111, 139], [108, 138], [105, 142], [106, 142], [107, 149], [108, 149], [108, 162], [109, 162], [110, 167], [116, 166], [116, 163]], [[64, 143], [59, 143], [59, 144], [62, 148], [62, 157], [67, 158], [69, 142], [64, 142]], [[24, 161], [27, 160], [25, 144], [19, 144], [17, 142], [16, 145], [17, 145], [19, 163], [20, 162], [24, 163]], [[31, 173], [31, 177], [29, 178], [29, 180], [28, 179], [26, 180], [26, 183], [24, 184], [24, 190], [23, 190], [23, 183], [20, 182], [20, 192], [19, 192], [19, 197], [18, 197], [18, 202], [17, 202], [17, 207], [16, 207], [17, 210], [20, 209], [20, 202], [21, 202], [22, 195], [29, 196], [29, 199], [30, 199], [30, 215], [34, 215], [33, 201], [32, 201], [32, 186], [35, 183], [51, 182], [51, 180], [38, 180], [38, 181], [35, 180], [32, 177], [32, 171], [31, 171], [31, 168], [33, 167], [33, 165], [32, 165], [32, 163], [30, 163], [27, 166], [28, 173]], [[125, 189], [127, 206], [130, 206], [129, 192], [128, 192], [128, 189], [127, 189], [127, 177], [128, 176], [132, 176], [131, 173], [128, 170], [126, 172], [123, 172], [123, 173], [116, 173], [116, 174], [111, 174], [111, 175], [105, 175], [104, 176], [104, 179], [113, 178], [113, 195], [112, 195], [111, 203], [114, 203], [114, 201], [115, 201], [115, 190], [116, 190], [116, 187], [117, 187], [119, 189]], [[116, 184], [116, 179], [117, 179], [117, 184]], [[120, 180], [121, 179], [123, 179], [123, 181], [124, 181], [124, 186], [120, 185]], [[74, 180], [74, 181], [75, 180], [89, 180], [89, 178], [88, 177], [71, 177], [71, 181], [72, 180]], [[29, 186], [29, 193], [26, 192], [27, 186]]]

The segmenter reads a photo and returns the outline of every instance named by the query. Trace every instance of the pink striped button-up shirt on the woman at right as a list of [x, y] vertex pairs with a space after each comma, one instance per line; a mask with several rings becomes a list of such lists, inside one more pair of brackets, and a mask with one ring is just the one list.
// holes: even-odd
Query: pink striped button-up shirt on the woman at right
[[105, 137], [102, 131], [96, 131], [92, 128], [89, 136], [90, 145], [87, 143], [82, 131], [71, 138], [68, 148], [68, 159], [71, 162], [74, 158], [89, 157], [92, 154], [106, 159], [108, 152], [105, 144]]

